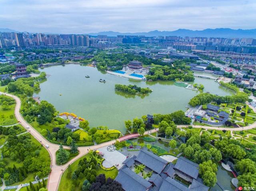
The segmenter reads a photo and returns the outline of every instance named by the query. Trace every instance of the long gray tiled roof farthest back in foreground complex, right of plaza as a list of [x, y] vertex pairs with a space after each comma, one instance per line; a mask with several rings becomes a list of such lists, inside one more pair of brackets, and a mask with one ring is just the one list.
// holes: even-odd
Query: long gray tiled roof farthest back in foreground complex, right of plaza
[[147, 151], [146, 149], [140, 150], [136, 161], [144, 164], [146, 167], [152, 169], [153, 171], [160, 174], [164, 169], [168, 161], [156, 156], [152, 152]]

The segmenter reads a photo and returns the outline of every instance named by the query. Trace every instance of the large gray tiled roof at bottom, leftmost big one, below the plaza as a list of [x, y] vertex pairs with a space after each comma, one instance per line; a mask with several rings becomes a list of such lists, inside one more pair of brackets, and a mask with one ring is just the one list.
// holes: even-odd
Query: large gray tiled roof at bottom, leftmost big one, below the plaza
[[119, 170], [115, 180], [125, 191], [146, 191], [152, 185], [129, 168]]

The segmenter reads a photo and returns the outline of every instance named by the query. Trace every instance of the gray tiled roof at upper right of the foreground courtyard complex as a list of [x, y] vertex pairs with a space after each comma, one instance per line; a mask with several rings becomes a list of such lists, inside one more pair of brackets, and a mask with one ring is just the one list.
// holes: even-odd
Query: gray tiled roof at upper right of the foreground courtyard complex
[[199, 165], [184, 157], [178, 158], [174, 168], [182, 171], [183, 173], [189, 175], [194, 179], [198, 177]]

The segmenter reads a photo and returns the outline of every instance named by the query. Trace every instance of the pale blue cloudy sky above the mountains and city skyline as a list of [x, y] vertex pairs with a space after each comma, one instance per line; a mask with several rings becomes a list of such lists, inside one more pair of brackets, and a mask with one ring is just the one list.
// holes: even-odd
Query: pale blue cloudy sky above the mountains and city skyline
[[0, 0], [0, 28], [149, 32], [256, 28], [256, 0]]

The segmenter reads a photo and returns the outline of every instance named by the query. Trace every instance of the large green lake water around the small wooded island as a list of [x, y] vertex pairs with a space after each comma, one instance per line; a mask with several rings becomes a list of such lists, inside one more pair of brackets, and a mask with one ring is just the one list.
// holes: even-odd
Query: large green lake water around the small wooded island
[[[50, 76], [40, 85], [41, 91], [34, 96], [52, 103], [60, 112], [72, 112], [85, 118], [91, 127], [104, 125], [121, 132], [125, 132], [124, 120], [145, 114], [186, 111], [185, 106], [190, 98], [198, 94], [175, 86], [173, 81], [138, 81], [103, 73], [94, 67], [58, 65], [40, 71]], [[85, 78], [85, 75], [90, 78]], [[105, 79], [106, 83], [100, 83], [99, 79]], [[147, 96], [128, 95], [115, 91], [116, 83], [135, 84], [154, 91]], [[196, 78], [195, 83], [203, 84], [205, 91], [210, 93], [231, 94], [214, 80]]]

